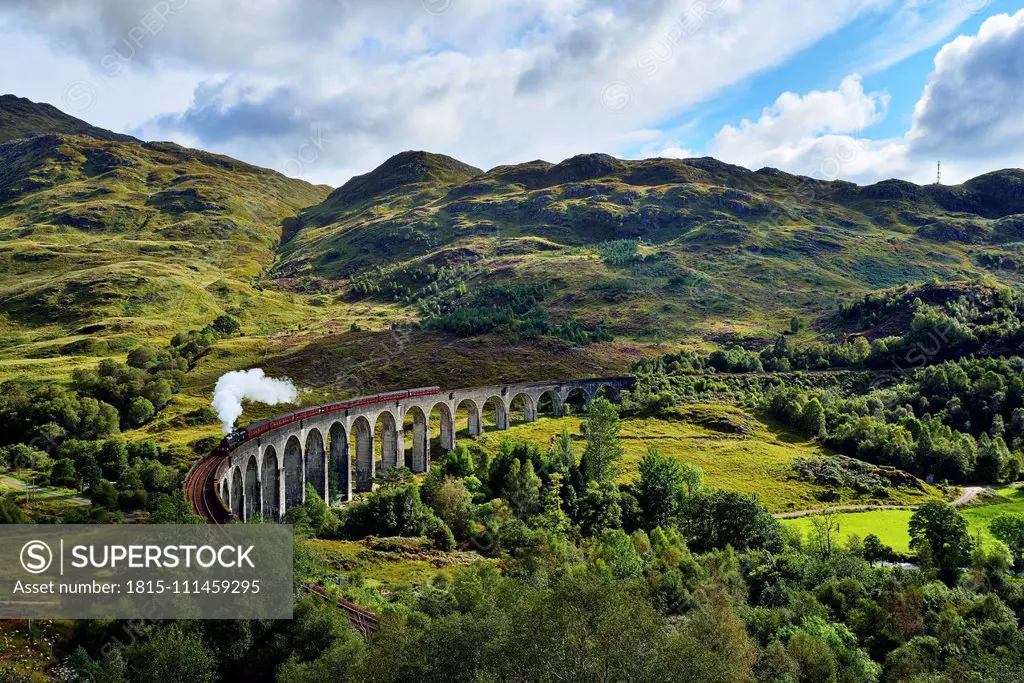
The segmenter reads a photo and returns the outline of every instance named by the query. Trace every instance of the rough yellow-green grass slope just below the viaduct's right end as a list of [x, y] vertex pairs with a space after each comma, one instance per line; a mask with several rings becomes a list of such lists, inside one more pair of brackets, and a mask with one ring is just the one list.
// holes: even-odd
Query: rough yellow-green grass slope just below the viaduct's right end
[[[481, 443], [495, 447], [503, 438], [536, 443], [547, 450], [551, 439], [563, 427], [578, 442], [577, 455], [583, 452], [580, 418], [542, 418], [529, 424], [515, 425], [508, 431], [490, 432]], [[698, 465], [705, 482], [712, 486], [756, 494], [773, 512], [820, 508], [828, 505], [869, 504], [872, 501], [852, 489], [840, 492], [842, 498], [822, 503], [817, 495], [824, 488], [792, 476], [796, 458], [825, 457], [827, 452], [816, 442], [787, 432], [779, 425], [737, 408], [720, 404], [685, 405], [667, 418], [629, 418], [623, 420], [622, 437], [626, 449], [620, 478], [631, 481], [647, 449], [655, 445], [663, 456]], [[894, 490], [884, 503], [916, 503], [935, 498], [926, 494]], [[883, 503], [874, 501], [876, 503]]]

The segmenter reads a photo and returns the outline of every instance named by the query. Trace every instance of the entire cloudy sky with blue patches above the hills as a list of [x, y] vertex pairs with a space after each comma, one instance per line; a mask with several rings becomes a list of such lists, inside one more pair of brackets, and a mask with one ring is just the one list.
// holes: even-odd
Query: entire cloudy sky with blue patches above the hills
[[1024, 166], [1024, 0], [0, 0], [0, 90], [333, 185], [408, 148]]

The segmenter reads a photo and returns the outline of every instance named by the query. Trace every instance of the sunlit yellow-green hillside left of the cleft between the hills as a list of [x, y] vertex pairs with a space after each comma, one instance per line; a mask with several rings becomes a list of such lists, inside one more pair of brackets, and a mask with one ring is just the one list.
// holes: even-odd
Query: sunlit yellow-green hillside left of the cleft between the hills
[[[5, 111], [8, 101], [0, 133], [8, 116], [26, 132], [31, 120]], [[85, 135], [0, 144], [0, 357], [116, 353], [118, 339], [169, 337], [225, 312], [263, 333], [307, 314], [301, 297], [266, 287], [264, 272], [288, 222], [326, 188], [70, 128]]]

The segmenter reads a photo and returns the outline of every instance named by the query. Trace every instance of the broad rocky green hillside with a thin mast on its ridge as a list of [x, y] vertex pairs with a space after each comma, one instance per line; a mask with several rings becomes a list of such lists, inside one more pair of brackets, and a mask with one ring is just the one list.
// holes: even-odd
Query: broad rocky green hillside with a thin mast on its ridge
[[552, 324], [644, 343], [770, 339], [795, 313], [851, 295], [932, 278], [1016, 280], [1022, 188], [1020, 170], [858, 187], [714, 159], [604, 155], [473, 175], [406, 153], [302, 212], [273, 274], [342, 300], [396, 301], [420, 318], [492, 305], [481, 299], [493, 286], [547, 285], [537, 308]]

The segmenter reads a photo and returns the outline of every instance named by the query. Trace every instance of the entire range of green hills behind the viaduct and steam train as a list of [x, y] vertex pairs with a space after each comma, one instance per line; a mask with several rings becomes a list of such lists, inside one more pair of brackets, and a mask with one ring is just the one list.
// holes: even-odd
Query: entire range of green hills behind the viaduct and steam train
[[305, 400], [608, 375], [680, 343], [763, 348], [795, 315], [797, 344], [845, 338], [864, 327], [837, 316], [852, 298], [1012, 284], [1024, 263], [1020, 170], [858, 187], [714, 159], [484, 172], [407, 152], [331, 191], [12, 96], [0, 141], [0, 380], [65, 383], [242, 324], [143, 434], [161, 441], [215, 433], [175, 425], [227, 370], [287, 375]]

